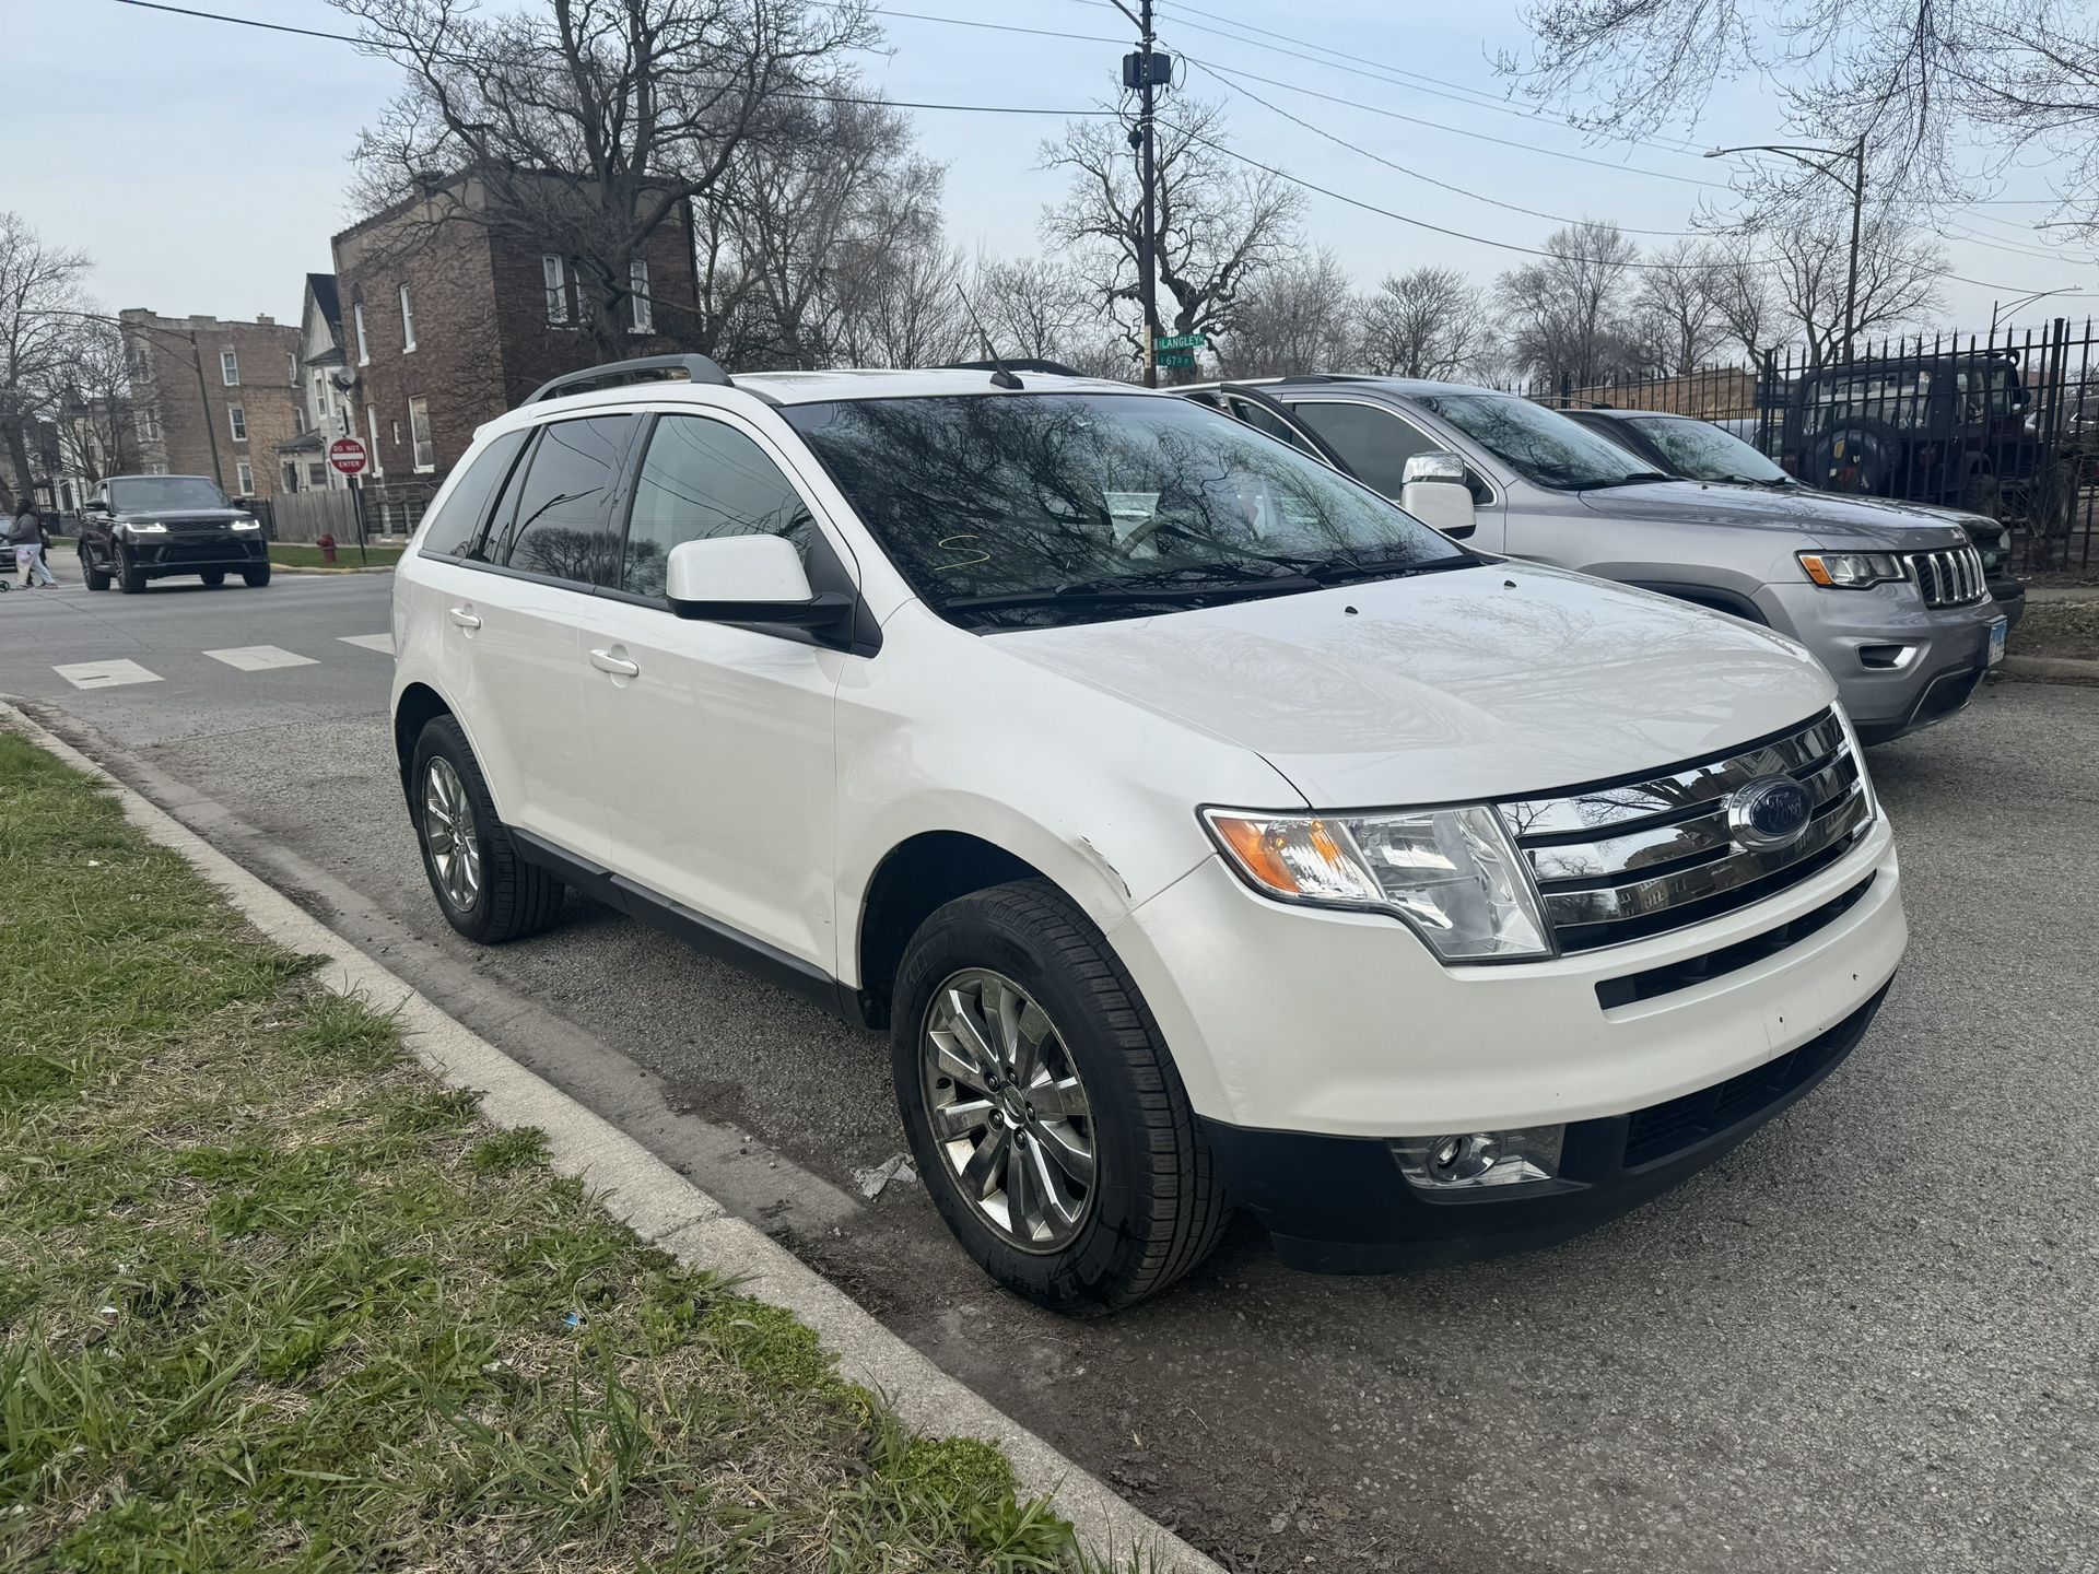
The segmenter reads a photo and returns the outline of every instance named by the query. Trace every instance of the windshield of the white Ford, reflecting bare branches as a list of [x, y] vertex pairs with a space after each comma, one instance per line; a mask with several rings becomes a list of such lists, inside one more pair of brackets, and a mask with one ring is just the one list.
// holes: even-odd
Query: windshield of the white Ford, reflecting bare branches
[[1136, 617], [1476, 558], [1186, 399], [963, 395], [781, 411], [911, 588], [966, 621]]

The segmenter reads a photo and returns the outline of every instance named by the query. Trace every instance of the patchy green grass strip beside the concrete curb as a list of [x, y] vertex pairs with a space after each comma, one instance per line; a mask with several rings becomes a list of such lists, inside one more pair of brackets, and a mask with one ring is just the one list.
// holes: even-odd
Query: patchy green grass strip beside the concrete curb
[[0, 1570], [1081, 1570], [0, 730]]

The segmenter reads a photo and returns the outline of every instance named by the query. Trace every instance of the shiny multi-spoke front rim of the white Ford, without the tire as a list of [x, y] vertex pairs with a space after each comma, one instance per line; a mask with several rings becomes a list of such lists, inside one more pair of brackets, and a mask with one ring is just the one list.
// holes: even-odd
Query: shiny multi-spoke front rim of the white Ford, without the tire
[[966, 967], [919, 1030], [926, 1119], [963, 1200], [1031, 1253], [1068, 1247], [1094, 1209], [1094, 1116], [1050, 1014], [1020, 984]]

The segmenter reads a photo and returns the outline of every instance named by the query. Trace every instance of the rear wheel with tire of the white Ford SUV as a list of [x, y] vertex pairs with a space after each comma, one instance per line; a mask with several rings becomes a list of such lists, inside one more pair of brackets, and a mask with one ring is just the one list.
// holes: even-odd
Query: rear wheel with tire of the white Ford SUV
[[416, 739], [409, 814], [430, 892], [468, 940], [523, 940], [560, 913], [560, 881], [518, 856], [466, 732], [449, 716], [430, 720]]

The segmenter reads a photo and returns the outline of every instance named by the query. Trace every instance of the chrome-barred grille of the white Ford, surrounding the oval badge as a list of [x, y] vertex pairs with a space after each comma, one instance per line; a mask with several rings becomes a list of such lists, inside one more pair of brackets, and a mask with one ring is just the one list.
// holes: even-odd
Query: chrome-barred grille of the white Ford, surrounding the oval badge
[[[1807, 831], [1776, 852], [1740, 846], [1730, 797], [1780, 774], [1807, 789]], [[1719, 760], [1499, 808], [1560, 951], [1665, 934], [1774, 896], [1837, 863], [1872, 816], [1830, 714]]]

